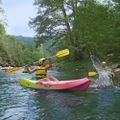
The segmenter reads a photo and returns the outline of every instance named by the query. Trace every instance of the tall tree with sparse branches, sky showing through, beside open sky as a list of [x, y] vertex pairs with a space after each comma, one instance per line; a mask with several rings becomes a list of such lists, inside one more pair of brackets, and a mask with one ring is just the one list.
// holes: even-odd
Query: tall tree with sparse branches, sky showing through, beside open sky
[[37, 44], [52, 39], [55, 40], [53, 45], [57, 44], [60, 48], [69, 46], [78, 53], [72, 27], [80, 4], [79, 0], [36, 0], [34, 5], [38, 6], [38, 15], [30, 21], [30, 25], [37, 33]]

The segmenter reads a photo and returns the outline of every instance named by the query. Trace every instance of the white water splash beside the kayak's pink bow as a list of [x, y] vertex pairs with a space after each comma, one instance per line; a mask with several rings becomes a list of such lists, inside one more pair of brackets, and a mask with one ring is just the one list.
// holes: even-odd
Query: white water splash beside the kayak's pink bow
[[91, 60], [94, 68], [98, 73], [98, 78], [94, 82], [94, 86], [97, 88], [105, 88], [113, 86], [111, 72], [112, 69], [108, 66], [103, 67], [102, 62], [95, 56], [91, 56]]

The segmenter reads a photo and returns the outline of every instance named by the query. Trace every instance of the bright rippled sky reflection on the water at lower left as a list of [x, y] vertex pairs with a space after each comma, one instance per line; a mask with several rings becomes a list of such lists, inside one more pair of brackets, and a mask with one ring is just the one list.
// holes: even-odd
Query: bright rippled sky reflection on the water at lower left
[[26, 107], [21, 87], [17, 86], [17, 77], [11, 78], [3, 74], [0, 79], [0, 120], [21, 119]]

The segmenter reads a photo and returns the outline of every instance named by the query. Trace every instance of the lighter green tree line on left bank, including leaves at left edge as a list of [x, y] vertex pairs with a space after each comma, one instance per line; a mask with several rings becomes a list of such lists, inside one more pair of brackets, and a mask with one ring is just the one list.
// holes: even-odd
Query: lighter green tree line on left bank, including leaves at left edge
[[[0, 0], [0, 16], [3, 16], [2, 1]], [[17, 40], [14, 35], [8, 35], [5, 31], [5, 20], [0, 20], [0, 65], [1, 66], [21, 66], [32, 64], [41, 57], [49, 55], [41, 44], [39, 47], [28, 46], [21, 40]], [[28, 41], [29, 42], [29, 41]], [[45, 53], [43, 53], [45, 51]]]

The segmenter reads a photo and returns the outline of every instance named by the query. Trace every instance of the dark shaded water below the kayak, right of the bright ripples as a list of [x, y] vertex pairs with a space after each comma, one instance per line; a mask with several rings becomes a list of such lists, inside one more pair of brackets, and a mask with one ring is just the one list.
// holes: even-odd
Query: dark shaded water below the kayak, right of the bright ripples
[[33, 120], [119, 120], [119, 93], [116, 88], [87, 92], [33, 91], [29, 96], [28, 116], [32, 115]]

